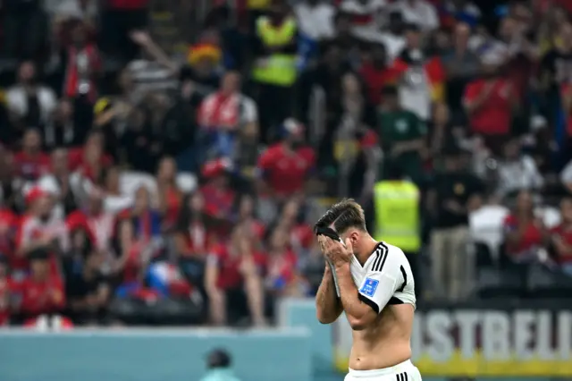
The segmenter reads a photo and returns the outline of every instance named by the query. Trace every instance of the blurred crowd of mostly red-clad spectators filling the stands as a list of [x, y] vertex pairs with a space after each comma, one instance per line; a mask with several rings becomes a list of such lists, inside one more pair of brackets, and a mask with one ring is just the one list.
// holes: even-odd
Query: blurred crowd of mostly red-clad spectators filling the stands
[[421, 195], [420, 299], [561, 294], [570, 5], [4, 0], [0, 326], [264, 326], [381, 182]]

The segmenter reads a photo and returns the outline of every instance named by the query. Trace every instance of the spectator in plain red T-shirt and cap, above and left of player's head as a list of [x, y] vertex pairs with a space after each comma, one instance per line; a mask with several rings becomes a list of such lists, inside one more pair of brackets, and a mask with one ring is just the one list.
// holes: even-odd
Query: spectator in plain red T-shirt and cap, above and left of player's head
[[258, 158], [260, 188], [266, 195], [288, 199], [304, 192], [308, 175], [315, 166], [315, 152], [302, 147], [304, 125], [294, 119], [282, 125], [282, 141], [273, 144]]

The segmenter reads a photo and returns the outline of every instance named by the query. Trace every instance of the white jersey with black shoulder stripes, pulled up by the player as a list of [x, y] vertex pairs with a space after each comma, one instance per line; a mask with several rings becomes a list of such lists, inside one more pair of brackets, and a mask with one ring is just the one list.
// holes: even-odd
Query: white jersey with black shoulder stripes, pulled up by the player
[[377, 313], [388, 304], [416, 306], [413, 273], [408, 258], [397, 246], [380, 241], [363, 267], [353, 257], [349, 269], [360, 301]]

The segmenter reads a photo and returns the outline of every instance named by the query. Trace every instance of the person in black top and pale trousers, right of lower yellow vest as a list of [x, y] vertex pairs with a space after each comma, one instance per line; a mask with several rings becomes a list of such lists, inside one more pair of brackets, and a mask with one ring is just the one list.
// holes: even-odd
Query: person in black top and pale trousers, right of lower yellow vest
[[468, 218], [480, 205], [483, 183], [466, 170], [463, 151], [450, 143], [444, 149], [444, 168], [435, 174], [427, 194], [432, 221], [432, 282], [437, 297], [466, 298], [474, 282], [474, 266], [467, 251]]

